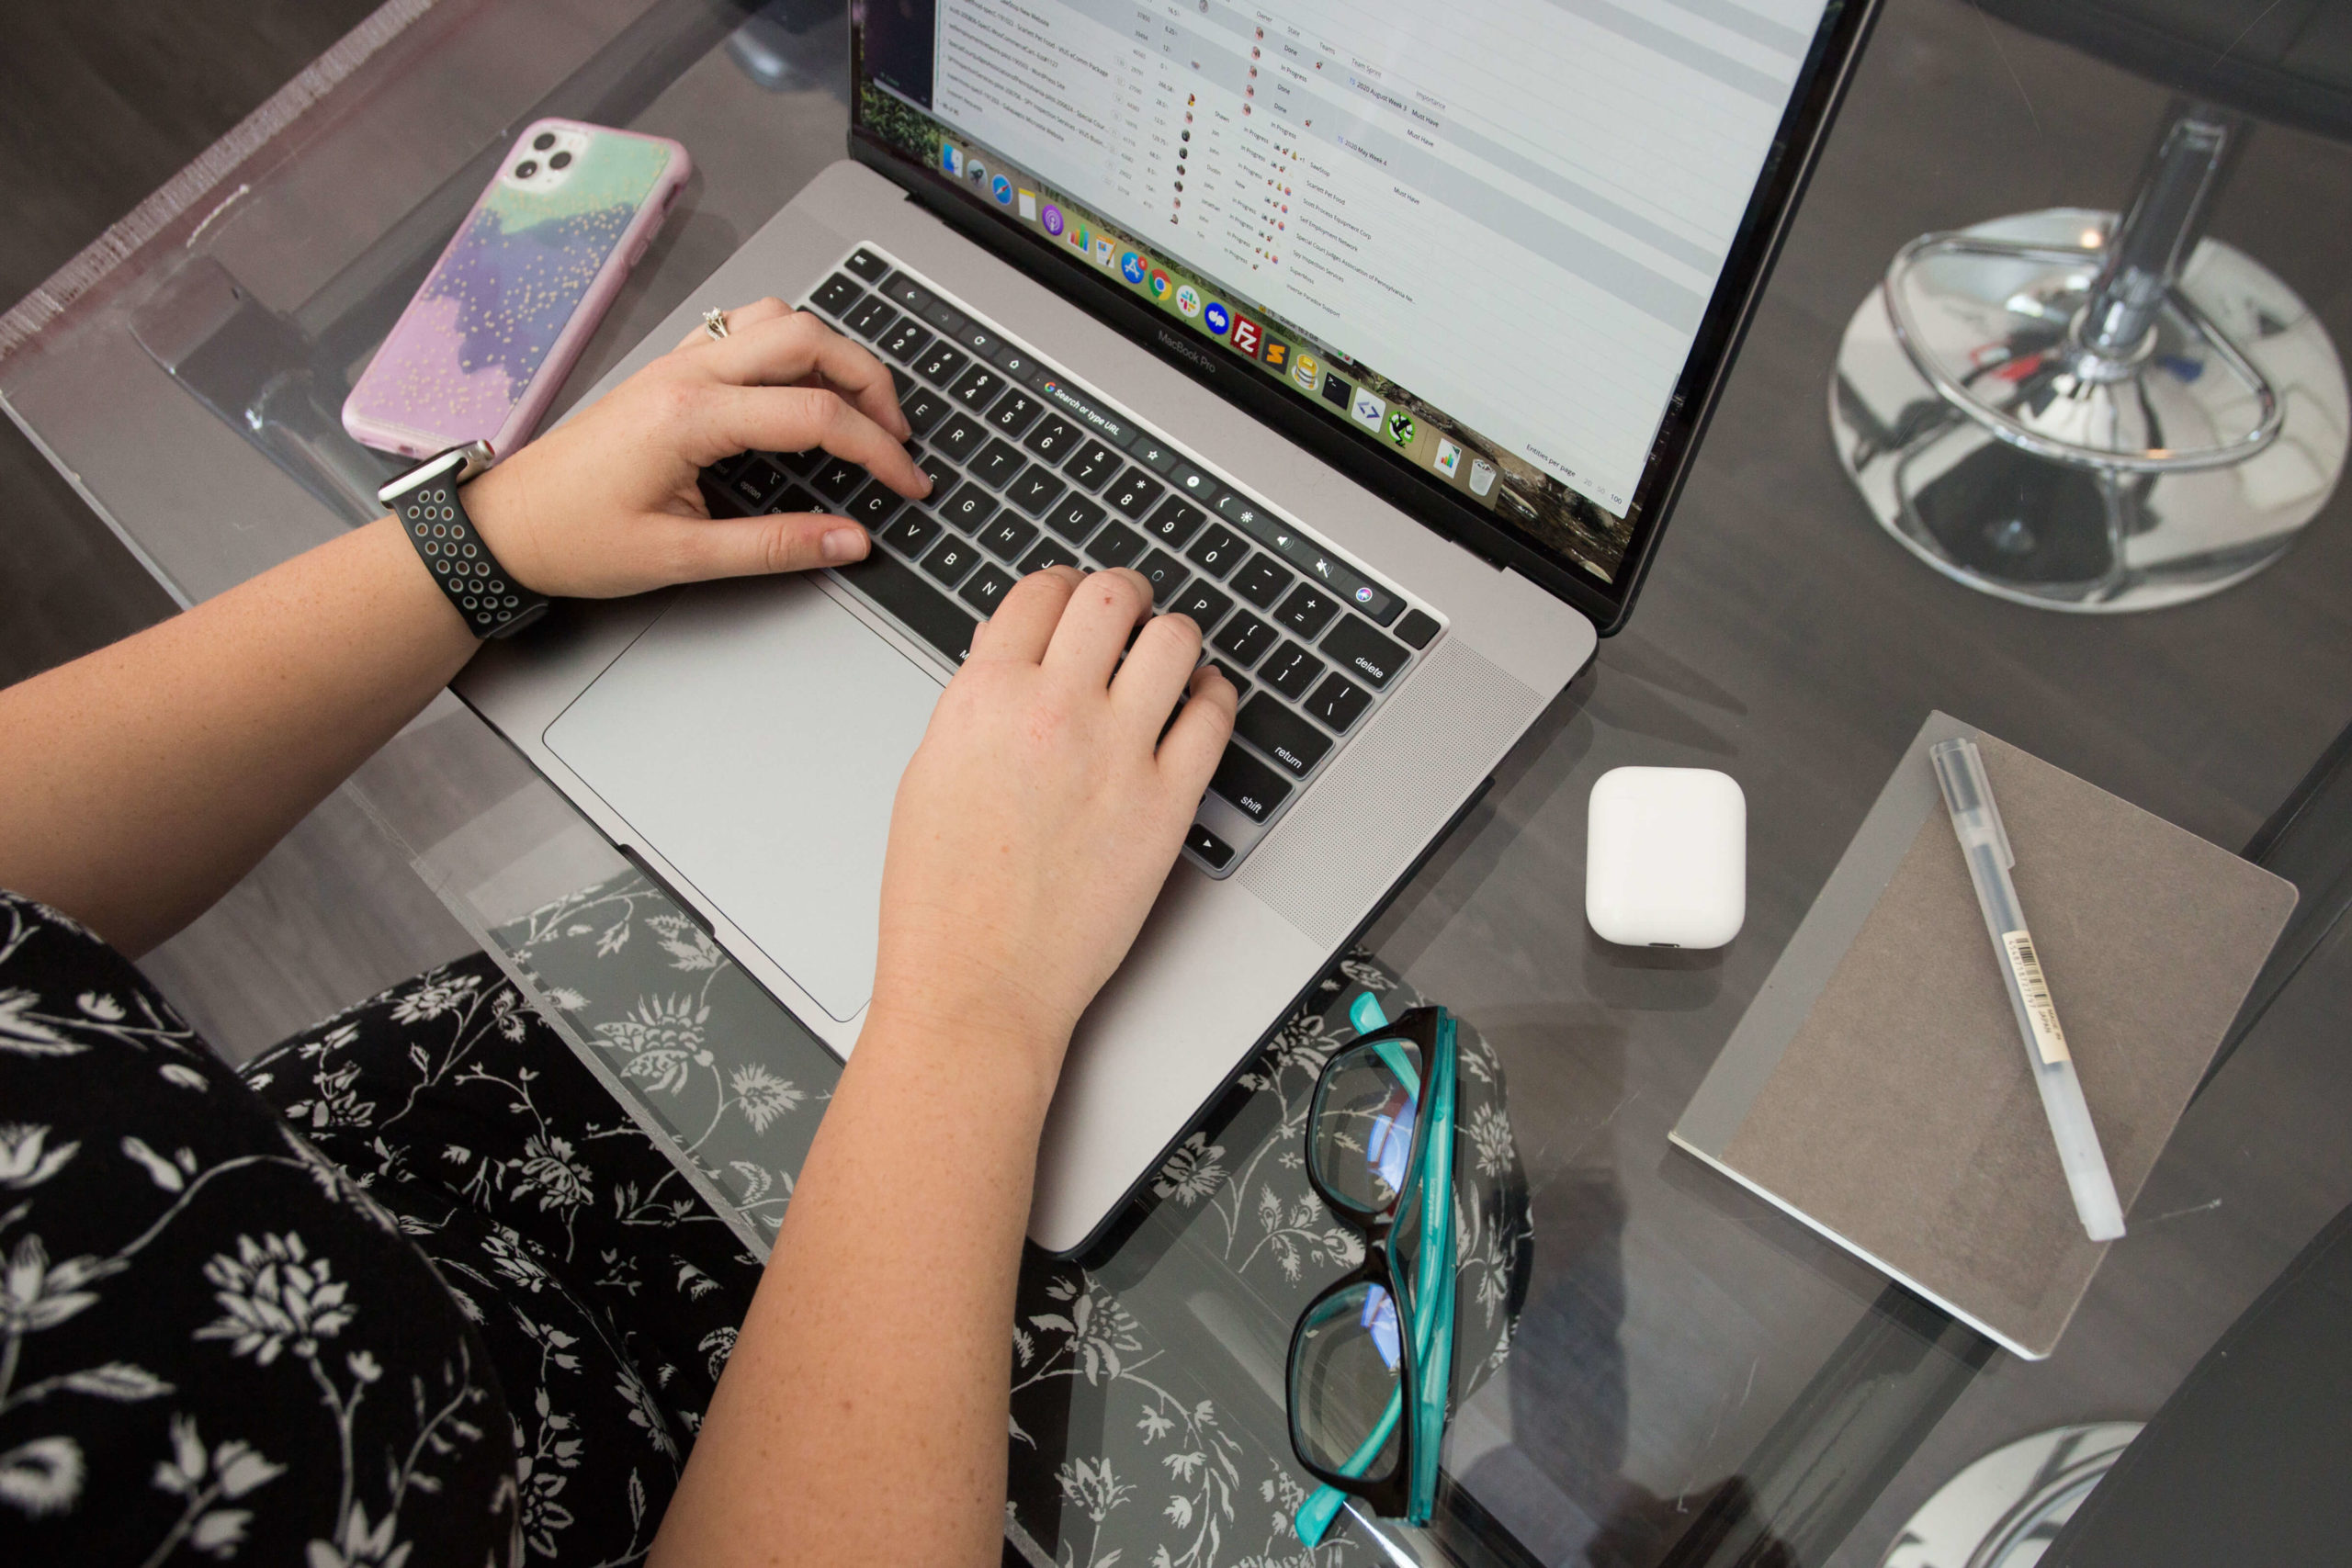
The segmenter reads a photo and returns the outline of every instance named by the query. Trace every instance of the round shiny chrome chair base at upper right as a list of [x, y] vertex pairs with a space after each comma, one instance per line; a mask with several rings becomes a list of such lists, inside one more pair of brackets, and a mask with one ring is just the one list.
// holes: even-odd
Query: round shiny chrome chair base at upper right
[[[2110, 378], [2063, 362], [2114, 221], [2053, 207], [1905, 247], [1837, 350], [1830, 433], [1872, 515], [1936, 571], [2018, 604], [2119, 614], [2220, 592], [2274, 562], [2345, 468], [2352, 395], [2326, 327], [2218, 240], [2197, 244], [2136, 362]], [[2267, 425], [2256, 393], [2277, 402]]]

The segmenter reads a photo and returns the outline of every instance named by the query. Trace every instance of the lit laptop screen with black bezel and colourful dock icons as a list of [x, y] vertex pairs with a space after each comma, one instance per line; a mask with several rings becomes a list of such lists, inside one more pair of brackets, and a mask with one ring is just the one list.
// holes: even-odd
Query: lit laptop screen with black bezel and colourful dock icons
[[856, 120], [1621, 602], [1849, 9], [861, 0]]

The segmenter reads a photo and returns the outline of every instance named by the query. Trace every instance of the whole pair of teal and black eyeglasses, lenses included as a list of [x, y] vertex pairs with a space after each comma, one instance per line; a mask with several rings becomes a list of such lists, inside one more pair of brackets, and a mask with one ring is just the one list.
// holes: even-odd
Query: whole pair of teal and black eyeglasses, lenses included
[[1291, 1448], [1322, 1481], [1294, 1516], [1308, 1547], [1348, 1495], [1430, 1521], [1454, 1375], [1454, 1016], [1390, 1025], [1367, 994], [1350, 1023], [1308, 1107], [1308, 1182], [1364, 1237], [1291, 1331]]

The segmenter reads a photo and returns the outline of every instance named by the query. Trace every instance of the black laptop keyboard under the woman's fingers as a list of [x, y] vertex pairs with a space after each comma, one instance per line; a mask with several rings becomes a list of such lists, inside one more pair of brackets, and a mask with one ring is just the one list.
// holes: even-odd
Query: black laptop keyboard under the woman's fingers
[[962, 663], [976, 623], [1030, 571], [1134, 567], [1202, 661], [1242, 696], [1185, 856], [1211, 877], [1362, 731], [1439, 621], [1167, 437], [861, 244], [804, 308], [891, 367], [929, 501], [826, 451], [746, 451], [703, 470], [715, 515], [837, 512], [875, 536], [835, 569], [858, 597]]

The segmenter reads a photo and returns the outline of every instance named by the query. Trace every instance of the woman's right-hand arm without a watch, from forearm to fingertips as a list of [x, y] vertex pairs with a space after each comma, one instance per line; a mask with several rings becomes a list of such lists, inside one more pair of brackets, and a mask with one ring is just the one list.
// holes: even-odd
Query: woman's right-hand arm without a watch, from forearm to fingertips
[[1150, 611], [1134, 571], [1025, 576], [931, 712], [891, 811], [873, 1009], [654, 1568], [1000, 1561], [1037, 1133], [1232, 731], [1183, 616], [1120, 663]]

